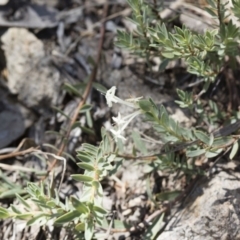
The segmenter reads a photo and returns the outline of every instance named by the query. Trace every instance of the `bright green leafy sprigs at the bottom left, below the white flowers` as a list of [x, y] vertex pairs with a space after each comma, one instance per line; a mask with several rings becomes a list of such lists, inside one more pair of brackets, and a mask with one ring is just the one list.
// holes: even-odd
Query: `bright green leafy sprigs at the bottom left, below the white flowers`
[[[102, 224], [106, 210], [102, 208], [103, 190], [101, 179], [114, 169], [112, 162], [120, 160], [114, 154], [112, 140], [102, 131], [102, 142], [99, 147], [83, 144], [78, 152], [81, 162], [77, 165], [84, 169], [84, 174], [74, 174], [72, 178], [81, 181], [83, 192], [81, 200], [74, 196], [62, 203], [58, 192], [50, 185], [28, 183], [27, 195], [16, 194], [18, 203], [8, 209], [0, 208], [0, 218], [16, 218], [27, 221], [27, 225], [38, 224], [72, 226], [72, 230], [82, 238], [92, 239], [96, 225]], [[45, 189], [47, 187], [47, 189]], [[25, 200], [27, 199], [27, 200]]]

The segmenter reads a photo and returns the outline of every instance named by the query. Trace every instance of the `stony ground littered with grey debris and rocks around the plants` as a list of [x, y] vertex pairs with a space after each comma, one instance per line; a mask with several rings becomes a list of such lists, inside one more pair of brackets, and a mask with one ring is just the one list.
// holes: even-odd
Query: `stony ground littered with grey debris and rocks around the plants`
[[[65, 115], [73, 117], [95, 65], [95, 83], [106, 88], [116, 86], [123, 99], [152, 98], [157, 104], [164, 104], [181, 124], [194, 124], [195, 119], [174, 103], [176, 88], [185, 89], [196, 80], [186, 72], [184, 63], [173, 62], [159, 73], [158, 58], [149, 69], [142, 59], [115, 47], [117, 30], [133, 29], [126, 20], [131, 10], [124, 0], [13, 2], [0, 6], [0, 206], [8, 207], [15, 201], [15, 193], [24, 195], [28, 181], [40, 181], [46, 174], [53, 159], [34, 154], [34, 150], [59, 153], [61, 136], [54, 132], [66, 134], [64, 129], [70, 123]], [[177, 13], [178, 24], [202, 32], [212, 24], [202, 10], [205, 4], [165, 1], [160, 15], [168, 19]], [[98, 61], [103, 23], [105, 36]], [[77, 87], [77, 93], [71, 86]], [[225, 101], [228, 96], [224, 96]], [[232, 91], [232, 98], [238, 106], [237, 90]], [[81, 144], [98, 144], [101, 127], [109, 129], [112, 116], [131, 111], [120, 105], [109, 109], [104, 96], [94, 88], [86, 102], [93, 106], [90, 115], [77, 117], [81, 127], [69, 132], [64, 146], [68, 156], [65, 155], [67, 169], [60, 191], [63, 201], [66, 196], [78, 195], [81, 189], [81, 184], [70, 177], [80, 172], [75, 162]], [[149, 155], [161, 146], [159, 136], [142, 118], [132, 123], [126, 137], [130, 139], [134, 131], [148, 140]], [[124, 153], [131, 154], [133, 148], [132, 140], [128, 140]], [[240, 239], [238, 162], [236, 159], [229, 164], [225, 158], [218, 162], [206, 177], [188, 181], [162, 171], [147, 175], [146, 165], [138, 164], [136, 159], [126, 160], [115, 175], [103, 181], [104, 207], [114, 212], [116, 220], [127, 223], [127, 227], [121, 224], [119, 231], [114, 226], [108, 239]], [[54, 167], [56, 183], [62, 171], [58, 162]], [[173, 190], [186, 193], [175, 205], [155, 204], [151, 198], [152, 194]], [[157, 229], [143, 227], [144, 222], [159, 220], [163, 212], [165, 218], [156, 225]], [[0, 221], [0, 239], [71, 239], [71, 235], [64, 229], [26, 227], [22, 221], [5, 220]]]

